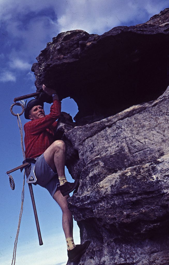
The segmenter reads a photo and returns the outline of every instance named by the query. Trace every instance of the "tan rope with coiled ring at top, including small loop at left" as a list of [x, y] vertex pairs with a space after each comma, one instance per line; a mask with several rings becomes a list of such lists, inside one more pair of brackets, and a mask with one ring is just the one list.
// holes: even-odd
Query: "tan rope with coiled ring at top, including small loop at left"
[[[15, 106], [15, 105], [18, 105], [18, 106], [21, 106], [22, 107], [22, 112], [20, 114], [15, 114], [13, 111], [12, 111], [12, 108]], [[22, 130], [22, 123], [21, 123], [21, 120], [20, 120], [20, 117], [24, 111], [25, 111], [25, 107], [22, 103], [19, 103], [19, 102], [16, 102], [14, 104], [11, 105], [10, 107], [10, 111], [12, 113], [12, 115], [14, 116], [17, 116], [17, 123], [18, 123], [18, 126], [19, 126], [19, 130], [20, 130], [20, 135], [21, 135], [21, 149], [22, 149], [22, 153], [23, 153], [23, 157], [24, 157], [24, 160], [25, 160], [25, 151], [24, 151], [24, 145], [23, 145], [23, 130]], [[19, 124], [20, 122], [20, 124]], [[8, 174], [9, 176], [9, 182], [10, 182], [10, 186], [11, 186], [11, 189], [14, 190], [15, 189], [15, 183], [14, 183], [14, 179], [12, 178], [12, 176], [10, 174]], [[17, 247], [17, 241], [18, 241], [18, 236], [19, 236], [19, 229], [20, 229], [20, 224], [21, 224], [21, 218], [22, 218], [22, 213], [23, 213], [23, 203], [24, 203], [24, 185], [25, 185], [25, 170], [24, 170], [24, 179], [23, 179], [23, 188], [22, 188], [22, 196], [21, 196], [21, 209], [20, 209], [20, 214], [19, 214], [19, 222], [18, 222], [18, 227], [17, 227], [17, 232], [16, 232], [16, 238], [15, 238], [15, 242], [14, 242], [14, 251], [13, 251], [13, 258], [12, 258], [12, 263], [11, 265], [15, 265], [15, 260], [16, 260], [16, 247]]]

